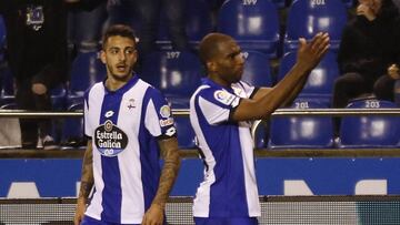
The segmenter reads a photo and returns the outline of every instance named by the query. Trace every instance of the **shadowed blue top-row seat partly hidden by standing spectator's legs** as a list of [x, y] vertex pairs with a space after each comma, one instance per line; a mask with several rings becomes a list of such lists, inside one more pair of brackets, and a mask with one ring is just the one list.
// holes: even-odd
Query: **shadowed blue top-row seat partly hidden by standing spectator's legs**
[[[201, 39], [213, 31], [212, 17], [208, 0], [190, 0], [186, 1], [186, 32], [189, 43], [193, 49], [198, 48]], [[166, 16], [161, 14], [159, 25], [159, 37], [157, 44], [161, 50], [171, 50], [171, 41], [168, 35], [168, 24]]]

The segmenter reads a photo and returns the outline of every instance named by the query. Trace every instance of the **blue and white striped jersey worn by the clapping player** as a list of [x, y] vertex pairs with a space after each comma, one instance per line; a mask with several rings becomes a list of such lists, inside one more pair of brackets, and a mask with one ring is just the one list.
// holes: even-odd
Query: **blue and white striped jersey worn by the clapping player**
[[253, 86], [238, 82], [226, 89], [209, 79], [190, 100], [190, 122], [206, 164], [204, 181], [193, 202], [196, 217], [256, 217], [260, 203], [249, 122], [230, 120]]

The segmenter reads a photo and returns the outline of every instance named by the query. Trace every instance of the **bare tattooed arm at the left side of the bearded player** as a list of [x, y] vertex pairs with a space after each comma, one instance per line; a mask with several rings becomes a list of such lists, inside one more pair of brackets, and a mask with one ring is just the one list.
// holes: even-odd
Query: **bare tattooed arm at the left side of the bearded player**
[[77, 200], [77, 209], [74, 215], [74, 225], [79, 225], [83, 218], [83, 214], [86, 211], [86, 204], [88, 202], [89, 194], [93, 187], [93, 155], [92, 155], [92, 142], [88, 142], [87, 150], [83, 156], [82, 163], [82, 176], [81, 176], [81, 184], [79, 188], [79, 196]]

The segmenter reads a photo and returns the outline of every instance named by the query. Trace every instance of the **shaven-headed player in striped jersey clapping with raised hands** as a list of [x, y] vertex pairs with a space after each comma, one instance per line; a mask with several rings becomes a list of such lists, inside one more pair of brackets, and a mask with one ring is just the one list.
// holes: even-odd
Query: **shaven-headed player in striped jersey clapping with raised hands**
[[318, 33], [310, 43], [300, 39], [289, 74], [274, 88], [254, 88], [241, 81], [244, 59], [231, 37], [203, 38], [199, 55], [208, 76], [190, 101], [190, 122], [207, 171], [193, 202], [197, 225], [258, 224], [261, 212], [249, 121], [267, 119], [290, 104], [328, 48], [328, 33]]

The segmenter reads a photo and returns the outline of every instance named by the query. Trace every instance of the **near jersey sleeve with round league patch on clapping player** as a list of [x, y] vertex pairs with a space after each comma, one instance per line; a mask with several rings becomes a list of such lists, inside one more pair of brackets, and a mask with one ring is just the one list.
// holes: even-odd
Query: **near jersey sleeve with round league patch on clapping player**
[[199, 93], [197, 103], [207, 122], [218, 124], [230, 120], [239, 102], [239, 96], [226, 90], [207, 89]]

